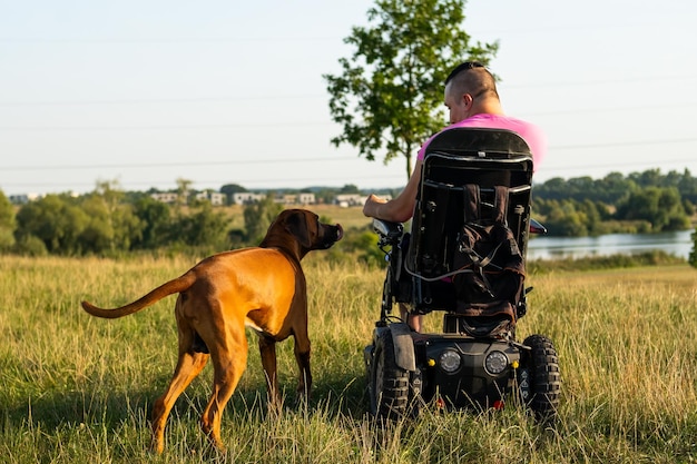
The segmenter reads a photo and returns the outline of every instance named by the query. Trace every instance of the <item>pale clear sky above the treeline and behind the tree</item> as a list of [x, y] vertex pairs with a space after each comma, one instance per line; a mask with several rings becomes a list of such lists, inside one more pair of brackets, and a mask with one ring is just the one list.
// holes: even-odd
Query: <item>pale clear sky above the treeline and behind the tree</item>
[[[0, 190], [402, 187], [403, 158], [330, 142], [322, 76], [373, 6], [0, 0]], [[534, 181], [697, 174], [696, 2], [469, 0], [464, 14], [473, 41], [499, 41], [504, 111], [547, 134]]]

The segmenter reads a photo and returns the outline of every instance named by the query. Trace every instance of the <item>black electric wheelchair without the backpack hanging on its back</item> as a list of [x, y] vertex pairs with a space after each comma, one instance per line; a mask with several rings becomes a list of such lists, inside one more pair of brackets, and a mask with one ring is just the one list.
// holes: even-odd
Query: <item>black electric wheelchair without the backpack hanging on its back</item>
[[[464, 186], [478, 186], [481, 209], [490, 209], [495, 201], [492, 192], [497, 186], [507, 187], [505, 221], [524, 261], [531, 228], [531, 178], [532, 157], [517, 134], [451, 129], [436, 136], [426, 149], [409, 245], [403, 225], [373, 221], [389, 263], [380, 319], [364, 349], [374, 415], [415, 416], [432, 402], [483, 409], [512, 401], [527, 405], [538, 419], [556, 417], [561, 378], [552, 342], [531, 335], [518, 343], [514, 328], [494, 334], [497, 320], [462, 317], [449, 282], [461, 272], [453, 255], [459, 230], [468, 220]], [[516, 302], [516, 319], [526, 314], [527, 292]], [[444, 310], [443, 333], [414, 333], [391, 316], [395, 303], [408, 303], [415, 314]], [[478, 332], [473, 325], [483, 329]]]

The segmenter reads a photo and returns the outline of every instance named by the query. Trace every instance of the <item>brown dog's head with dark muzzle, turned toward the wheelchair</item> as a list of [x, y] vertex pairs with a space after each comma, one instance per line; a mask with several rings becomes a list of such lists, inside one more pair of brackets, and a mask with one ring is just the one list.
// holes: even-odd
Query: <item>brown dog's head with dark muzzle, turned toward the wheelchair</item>
[[[326, 249], [341, 240], [344, 230], [340, 224], [320, 221], [320, 217], [306, 209], [286, 209], [268, 227], [261, 247], [291, 247], [288, 235], [296, 241], [298, 258], [313, 249]], [[285, 241], [285, 243], [284, 243]], [[293, 247], [294, 248], [294, 247]]]

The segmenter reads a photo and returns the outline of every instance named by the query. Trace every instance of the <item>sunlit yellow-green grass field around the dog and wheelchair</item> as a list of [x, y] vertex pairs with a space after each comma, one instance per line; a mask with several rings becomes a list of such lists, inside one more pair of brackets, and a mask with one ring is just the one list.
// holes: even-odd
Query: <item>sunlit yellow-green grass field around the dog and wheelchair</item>
[[[532, 275], [519, 338], [550, 336], [560, 355], [559, 423], [523, 412], [443, 414], [383, 426], [365, 411], [362, 351], [383, 274], [305, 263], [314, 392], [294, 405], [293, 343], [279, 346], [286, 407], [265, 416], [251, 335], [249, 366], [223, 417], [226, 453], [198, 416], [212, 369], [179, 398], [167, 445], [150, 454], [149, 411], [176, 359], [174, 297], [117, 320], [116, 306], [194, 261], [0, 256], [1, 463], [691, 463], [697, 462], [697, 270], [686, 266]], [[436, 315], [428, 324], [438, 327]]]

